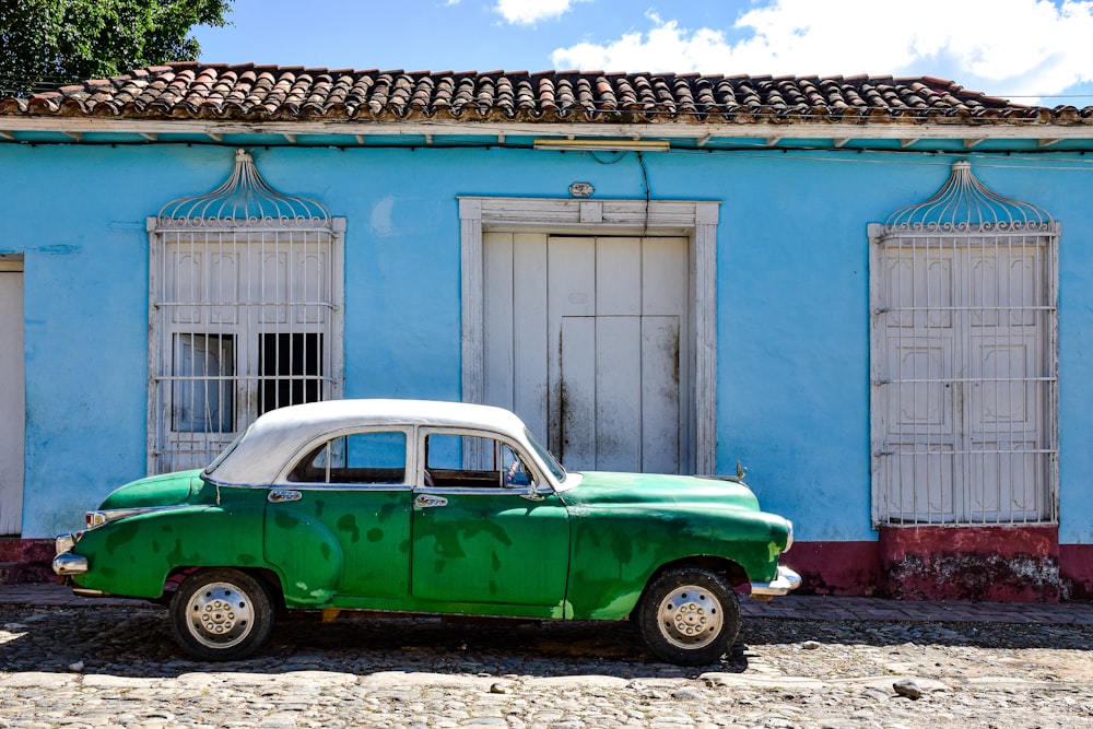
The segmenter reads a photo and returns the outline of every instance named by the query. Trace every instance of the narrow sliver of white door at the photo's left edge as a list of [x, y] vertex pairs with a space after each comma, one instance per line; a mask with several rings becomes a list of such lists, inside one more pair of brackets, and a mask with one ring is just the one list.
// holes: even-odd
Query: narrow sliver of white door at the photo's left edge
[[0, 536], [23, 525], [23, 272], [0, 261]]

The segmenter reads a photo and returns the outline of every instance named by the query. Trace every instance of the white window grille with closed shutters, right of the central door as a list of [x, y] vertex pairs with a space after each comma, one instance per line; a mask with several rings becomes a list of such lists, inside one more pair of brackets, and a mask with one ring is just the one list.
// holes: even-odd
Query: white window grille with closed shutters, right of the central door
[[1058, 519], [1058, 235], [967, 162], [870, 225], [874, 524]]

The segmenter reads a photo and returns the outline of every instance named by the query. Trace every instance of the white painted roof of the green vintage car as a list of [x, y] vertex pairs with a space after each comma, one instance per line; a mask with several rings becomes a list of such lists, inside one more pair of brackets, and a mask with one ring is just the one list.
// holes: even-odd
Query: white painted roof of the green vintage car
[[439, 400], [327, 400], [266, 413], [205, 474], [222, 485], [271, 484], [305, 446], [324, 436], [408, 425], [485, 430], [527, 447], [524, 421], [503, 408]]

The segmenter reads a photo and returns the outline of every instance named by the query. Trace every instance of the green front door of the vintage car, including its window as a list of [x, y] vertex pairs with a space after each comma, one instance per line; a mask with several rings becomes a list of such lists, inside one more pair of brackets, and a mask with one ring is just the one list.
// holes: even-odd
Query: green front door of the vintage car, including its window
[[424, 471], [413, 501], [413, 597], [449, 609], [491, 603], [561, 610], [568, 515], [553, 491], [531, 483], [522, 466], [528, 459], [481, 434], [422, 428], [418, 437]]

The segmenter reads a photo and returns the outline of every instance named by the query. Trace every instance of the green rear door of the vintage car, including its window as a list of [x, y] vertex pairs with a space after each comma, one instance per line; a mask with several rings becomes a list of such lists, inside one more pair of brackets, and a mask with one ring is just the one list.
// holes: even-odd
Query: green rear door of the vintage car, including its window
[[410, 592], [407, 445], [412, 428], [334, 434], [270, 489], [266, 557], [290, 603], [406, 598]]

